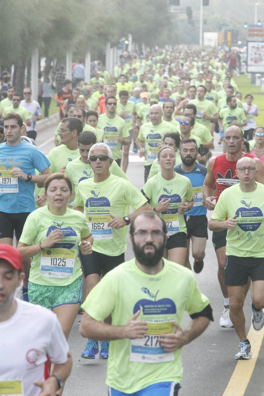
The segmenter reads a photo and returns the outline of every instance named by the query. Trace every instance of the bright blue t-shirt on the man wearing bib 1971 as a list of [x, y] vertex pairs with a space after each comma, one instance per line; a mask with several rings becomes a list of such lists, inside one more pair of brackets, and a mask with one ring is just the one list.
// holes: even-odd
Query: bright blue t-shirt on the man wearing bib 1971
[[[35, 175], [35, 169], [43, 172], [50, 166], [47, 157], [34, 145], [22, 141], [17, 146], [0, 144], [0, 185], [3, 183], [1, 171], [21, 168], [29, 175]], [[2, 185], [1, 187], [8, 187]], [[18, 177], [18, 192], [2, 192], [0, 187], [0, 211], [6, 213], [32, 212], [35, 210], [34, 188], [35, 183], [22, 180]]]

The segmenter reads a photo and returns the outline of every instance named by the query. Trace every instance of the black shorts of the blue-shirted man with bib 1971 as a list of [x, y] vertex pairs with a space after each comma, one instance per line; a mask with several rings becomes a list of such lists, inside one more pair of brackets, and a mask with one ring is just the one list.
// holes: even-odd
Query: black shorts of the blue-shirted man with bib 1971
[[14, 231], [17, 240], [21, 237], [25, 221], [30, 212], [5, 213], [0, 212], [0, 238], [13, 239]]

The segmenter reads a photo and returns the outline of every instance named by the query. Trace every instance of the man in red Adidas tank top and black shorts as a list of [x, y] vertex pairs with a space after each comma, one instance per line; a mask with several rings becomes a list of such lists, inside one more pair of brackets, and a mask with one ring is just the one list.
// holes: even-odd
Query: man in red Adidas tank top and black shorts
[[[253, 158], [251, 154], [242, 152], [244, 143], [243, 133], [238, 126], [230, 126], [225, 131], [224, 143], [227, 152], [211, 158], [207, 164], [207, 174], [203, 183], [203, 204], [208, 210], [214, 210], [215, 200], [219, 199], [220, 194], [226, 188], [239, 182], [236, 174], [236, 164], [240, 158]], [[264, 184], [264, 167], [258, 158], [254, 158], [258, 168], [256, 181]], [[213, 194], [216, 185], [216, 196]], [[224, 267], [226, 260], [226, 230], [213, 232], [213, 246], [218, 261], [218, 281], [224, 297], [224, 310], [220, 317], [219, 325], [221, 327], [233, 327], [229, 317], [229, 297], [226, 285], [224, 285]], [[250, 281], [245, 287], [245, 294], [250, 286]]]

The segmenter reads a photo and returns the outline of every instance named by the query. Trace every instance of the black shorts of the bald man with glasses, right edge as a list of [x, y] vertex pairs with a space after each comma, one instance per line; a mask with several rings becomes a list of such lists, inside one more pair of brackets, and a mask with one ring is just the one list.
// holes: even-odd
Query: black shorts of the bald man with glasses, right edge
[[249, 276], [252, 282], [255, 282], [255, 280], [264, 280], [263, 257], [226, 256], [224, 285], [246, 285]]

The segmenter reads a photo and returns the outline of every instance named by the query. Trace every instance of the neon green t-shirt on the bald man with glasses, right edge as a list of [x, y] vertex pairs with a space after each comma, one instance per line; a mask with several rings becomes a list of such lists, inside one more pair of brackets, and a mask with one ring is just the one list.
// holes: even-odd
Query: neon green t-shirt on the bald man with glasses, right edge
[[224, 221], [237, 215], [234, 230], [227, 230], [226, 255], [263, 257], [264, 246], [264, 185], [256, 182], [252, 192], [241, 191], [236, 184], [222, 191], [212, 219]]

